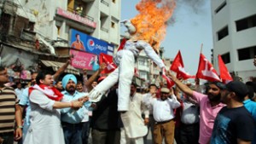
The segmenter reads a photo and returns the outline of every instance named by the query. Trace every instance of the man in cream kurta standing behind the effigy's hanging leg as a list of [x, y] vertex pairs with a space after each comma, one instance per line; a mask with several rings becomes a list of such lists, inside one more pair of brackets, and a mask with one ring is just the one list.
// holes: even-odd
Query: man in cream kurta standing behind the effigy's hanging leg
[[[124, 128], [121, 129], [121, 140], [123, 144], [143, 144], [143, 136], [147, 135], [148, 128], [148, 108], [143, 95], [136, 92], [137, 84], [131, 84], [130, 92], [130, 110], [121, 113]], [[142, 118], [144, 113], [145, 118]]]

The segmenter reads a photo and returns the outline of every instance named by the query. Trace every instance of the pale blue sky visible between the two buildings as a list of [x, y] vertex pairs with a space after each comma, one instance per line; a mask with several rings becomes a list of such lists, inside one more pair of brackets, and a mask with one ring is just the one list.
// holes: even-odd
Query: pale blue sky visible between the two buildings
[[[139, 0], [121, 1], [121, 20], [131, 19], [138, 14], [135, 8]], [[202, 53], [210, 60], [212, 44], [212, 19], [210, 0], [177, 0], [174, 21], [167, 27], [166, 38], [161, 43], [165, 58], [174, 58], [180, 49], [185, 70], [195, 74], [198, 67], [201, 43]], [[125, 28], [121, 27], [121, 33]]]

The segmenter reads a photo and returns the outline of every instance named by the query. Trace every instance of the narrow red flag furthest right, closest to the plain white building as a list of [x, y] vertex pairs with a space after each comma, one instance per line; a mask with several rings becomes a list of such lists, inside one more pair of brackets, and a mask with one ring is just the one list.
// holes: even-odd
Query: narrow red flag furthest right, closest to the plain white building
[[233, 78], [230, 76], [228, 68], [225, 66], [224, 61], [222, 60], [220, 55], [218, 55], [218, 69], [219, 77], [224, 83], [228, 83], [233, 80]]

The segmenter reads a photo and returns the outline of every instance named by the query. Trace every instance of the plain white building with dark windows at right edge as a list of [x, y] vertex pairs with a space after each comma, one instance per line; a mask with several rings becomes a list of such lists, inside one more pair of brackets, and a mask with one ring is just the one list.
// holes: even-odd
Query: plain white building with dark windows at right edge
[[218, 71], [218, 55], [233, 76], [244, 82], [256, 77], [256, 1], [212, 0], [212, 62]]

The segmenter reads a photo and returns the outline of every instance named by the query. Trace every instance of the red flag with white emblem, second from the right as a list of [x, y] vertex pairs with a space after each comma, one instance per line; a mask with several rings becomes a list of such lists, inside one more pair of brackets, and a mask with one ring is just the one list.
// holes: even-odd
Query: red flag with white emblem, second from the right
[[196, 73], [196, 78], [206, 79], [210, 82], [220, 81], [216, 70], [213, 68], [210, 61], [207, 60], [205, 55], [200, 54], [199, 66]]

